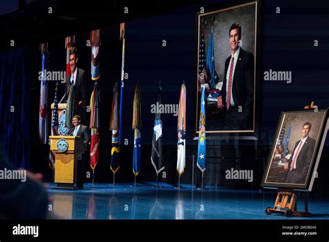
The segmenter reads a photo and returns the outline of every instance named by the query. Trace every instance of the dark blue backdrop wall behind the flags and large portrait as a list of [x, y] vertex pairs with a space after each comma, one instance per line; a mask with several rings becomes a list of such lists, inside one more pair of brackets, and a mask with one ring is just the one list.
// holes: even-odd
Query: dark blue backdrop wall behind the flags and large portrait
[[[154, 179], [149, 159], [151, 155], [151, 138], [154, 115], [151, 104], [155, 104], [158, 80], [162, 80], [162, 99], [166, 104], [178, 104], [180, 84], [183, 79], [187, 85], [187, 145], [189, 153], [196, 149], [194, 138], [195, 122], [195, 90], [196, 90], [196, 13], [200, 7], [205, 12], [210, 9], [209, 4], [215, 3], [221, 8], [221, 3], [227, 1], [205, 1], [196, 6], [174, 10], [162, 15], [144, 17], [126, 23], [126, 67], [129, 79], [125, 84], [124, 102], [124, 138], [128, 138], [129, 145], [124, 147], [126, 155], [122, 160], [126, 170], [120, 176], [133, 178], [131, 172], [133, 130], [131, 129], [133, 110], [133, 90], [135, 83], [140, 81], [142, 89], [142, 142], [145, 145], [142, 159], [141, 179]], [[276, 8], [280, 7], [280, 14]], [[266, 162], [269, 148], [273, 143], [276, 125], [282, 110], [301, 109], [303, 106], [316, 102], [319, 108], [329, 106], [328, 88], [328, 43], [326, 24], [329, 22], [328, 3], [317, 1], [262, 1], [260, 32], [260, 140], [257, 143], [239, 143], [251, 145], [257, 157], [240, 153], [242, 165], [247, 164], [262, 176], [264, 162]], [[74, 28], [72, 28], [74, 29]], [[90, 33], [76, 34], [77, 47], [80, 52], [78, 65], [90, 73], [90, 47], [85, 46]], [[162, 40], [167, 41], [167, 47], [162, 47]], [[314, 47], [314, 40], [319, 40], [319, 46]], [[49, 40], [52, 70], [65, 70], [64, 38]], [[226, 54], [227, 55], [227, 54]], [[40, 56], [39, 56], [40, 58]], [[35, 72], [40, 71], [40, 61], [36, 61]], [[101, 28], [101, 143], [99, 165], [96, 167], [98, 177], [110, 179], [110, 105], [112, 102], [112, 87], [119, 81], [121, 68], [121, 42], [119, 41], [119, 25], [109, 24]], [[265, 71], [291, 71], [292, 83], [283, 81], [264, 81]], [[37, 121], [37, 93], [40, 83], [33, 79], [33, 117]], [[91, 82], [92, 83], [92, 82]], [[54, 87], [54, 83], [52, 83]], [[62, 87], [63, 88], [63, 85]], [[91, 92], [91, 90], [90, 90]], [[53, 88], [49, 86], [49, 102], [53, 102]], [[162, 115], [163, 140], [166, 145], [167, 164], [175, 166], [177, 117], [172, 114]], [[50, 123], [50, 120], [49, 120]], [[47, 168], [49, 147], [38, 144], [37, 125], [33, 122], [31, 131], [34, 132], [35, 147], [32, 147], [35, 160]], [[148, 146], [146, 146], [148, 145]], [[223, 143], [208, 142], [208, 148], [214, 150], [212, 156], [217, 163], [226, 151], [221, 150]], [[212, 146], [213, 145], [213, 146]], [[226, 144], [227, 145], [227, 144]], [[257, 149], [265, 147], [262, 154]], [[235, 146], [227, 147], [234, 149]], [[239, 147], [240, 149], [241, 147]], [[47, 150], [48, 149], [48, 150]], [[245, 148], [250, 151], [249, 147]], [[325, 147], [325, 150], [328, 149]], [[240, 149], [241, 150], [241, 149]], [[210, 152], [211, 153], [211, 152]], [[209, 153], [209, 154], [210, 154]], [[188, 155], [190, 155], [188, 154]], [[235, 154], [235, 153], [234, 153]], [[216, 158], [216, 160], [215, 160]], [[240, 159], [240, 158], [239, 158]], [[189, 157], [189, 163], [190, 163]], [[251, 161], [252, 160], [252, 161]], [[254, 162], [254, 163], [253, 163]], [[323, 163], [323, 162], [322, 162]], [[41, 168], [40, 166], [39, 168]], [[170, 166], [170, 165], [169, 165]], [[232, 165], [235, 166], [235, 165]], [[321, 163], [320, 163], [321, 166]], [[124, 168], [124, 167], [123, 167]], [[209, 172], [220, 172], [209, 169]], [[321, 170], [321, 167], [319, 168]], [[172, 170], [175, 172], [175, 169]], [[120, 177], [118, 175], [118, 178]], [[258, 184], [259, 185], [259, 184]]]

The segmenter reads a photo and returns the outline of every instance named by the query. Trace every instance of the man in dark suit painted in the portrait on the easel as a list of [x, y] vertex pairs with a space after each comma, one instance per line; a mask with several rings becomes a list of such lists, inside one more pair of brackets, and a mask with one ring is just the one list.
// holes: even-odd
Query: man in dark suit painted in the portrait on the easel
[[284, 169], [287, 170], [285, 183], [305, 183], [315, 147], [315, 140], [308, 136], [311, 127], [312, 124], [310, 122], [305, 122], [302, 129], [301, 140], [296, 142], [292, 156], [290, 156], [287, 163], [285, 163]]

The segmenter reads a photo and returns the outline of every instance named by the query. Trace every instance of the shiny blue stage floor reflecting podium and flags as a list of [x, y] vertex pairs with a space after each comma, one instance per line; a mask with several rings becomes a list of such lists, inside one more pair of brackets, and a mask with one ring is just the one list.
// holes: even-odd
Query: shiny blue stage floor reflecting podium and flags
[[[63, 219], [203, 219], [203, 220], [301, 220], [329, 219], [329, 197], [310, 195], [310, 218], [271, 214], [264, 211], [273, 207], [276, 191], [246, 191], [182, 184], [176, 189], [169, 184], [84, 184], [83, 190], [55, 189], [49, 184], [53, 212]], [[303, 211], [304, 201], [298, 199], [298, 210]]]

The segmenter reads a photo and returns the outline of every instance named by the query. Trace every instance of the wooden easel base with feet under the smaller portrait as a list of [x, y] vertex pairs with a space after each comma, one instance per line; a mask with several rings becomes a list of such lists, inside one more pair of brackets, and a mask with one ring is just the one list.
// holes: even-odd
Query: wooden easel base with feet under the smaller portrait
[[267, 207], [265, 213], [270, 215], [271, 213], [284, 213], [287, 217], [299, 216], [310, 217], [311, 213], [308, 211], [308, 194], [305, 197], [305, 211], [297, 210], [297, 193], [293, 190], [278, 191], [276, 195], [276, 202], [273, 209]]

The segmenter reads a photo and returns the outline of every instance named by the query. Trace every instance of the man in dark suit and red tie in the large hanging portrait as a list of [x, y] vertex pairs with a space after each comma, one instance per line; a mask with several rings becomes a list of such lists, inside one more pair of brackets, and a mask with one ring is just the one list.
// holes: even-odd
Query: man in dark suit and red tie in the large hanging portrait
[[223, 111], [223, 129], [253, 129], [254, 59], [251, 52], [239, 46], [242, 28], [230, 27], [229, 43], [232, 54], [226, 59], [223, 88], [217, 107]]

